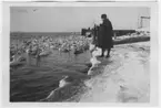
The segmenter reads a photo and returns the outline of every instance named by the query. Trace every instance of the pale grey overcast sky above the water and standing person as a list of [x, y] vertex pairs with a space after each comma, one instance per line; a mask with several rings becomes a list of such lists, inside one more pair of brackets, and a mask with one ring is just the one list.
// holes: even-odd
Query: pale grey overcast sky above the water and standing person
[[21, 32], [79, 32], [101, 23], [102, 13], [114, 29], [137, 29], [139, 17], [150, 17], [148, 8], [121, 7], [11, 7], [10, 12], [11, 31]]

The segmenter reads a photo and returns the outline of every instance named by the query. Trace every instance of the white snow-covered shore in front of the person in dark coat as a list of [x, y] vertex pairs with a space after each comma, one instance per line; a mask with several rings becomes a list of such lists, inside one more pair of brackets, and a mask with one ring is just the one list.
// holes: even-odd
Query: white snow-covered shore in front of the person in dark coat
[[[100, 53], [98, 50], [93, 56]], [[98, 58], [101, 64], [90, 72], [93, 78], [85, 82], [90, 89], [79, 102], [149, 102], [149, 57], [150, 42], [115, 45], [111, 57]]]

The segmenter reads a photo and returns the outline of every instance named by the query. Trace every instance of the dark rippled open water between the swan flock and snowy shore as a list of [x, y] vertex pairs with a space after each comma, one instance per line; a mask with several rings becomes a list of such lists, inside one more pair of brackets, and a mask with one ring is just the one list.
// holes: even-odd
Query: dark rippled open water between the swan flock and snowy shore
[[37, 101], [56, 89], [63, 75], [87, 78], [90, 53], [79, 55], [53, 51], [44, 57], [28, 56], [27, 64], [11, 69], [10, 100]]

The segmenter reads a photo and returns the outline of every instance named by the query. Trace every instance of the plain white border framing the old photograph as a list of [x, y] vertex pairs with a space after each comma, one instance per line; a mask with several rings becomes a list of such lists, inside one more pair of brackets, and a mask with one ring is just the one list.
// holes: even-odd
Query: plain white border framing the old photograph
[[[149, 7], [151, 9], [151, 55], [150, 55], [150, 102], [149, 104], [104, 104], [104, 102], [10, 102], [9, 101], [9, 45], [10, 45], [10, 7]], [[2, 7], [2, 105], [7, 107], [84, 107], [84, 106], [158, 106], [159, 100], [159, 35], [158, 35], [158, 3], [157, 2], [9, 2]]]

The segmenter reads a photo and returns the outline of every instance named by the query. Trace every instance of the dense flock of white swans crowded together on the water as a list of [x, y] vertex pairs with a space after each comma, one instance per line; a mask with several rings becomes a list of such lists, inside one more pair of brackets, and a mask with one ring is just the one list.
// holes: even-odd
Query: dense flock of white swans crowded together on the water
[[48, 56], [53, 50], [60, 52], [73, 52], [80, 54], [89, 50], [90, 40], [85, 36], [70, 35], [52, 39], [51, 36], [32, 37], [29, 40], [19, 39], [10, 45], [10, 64], [26, 61], [23, 55], [34, 57]]

